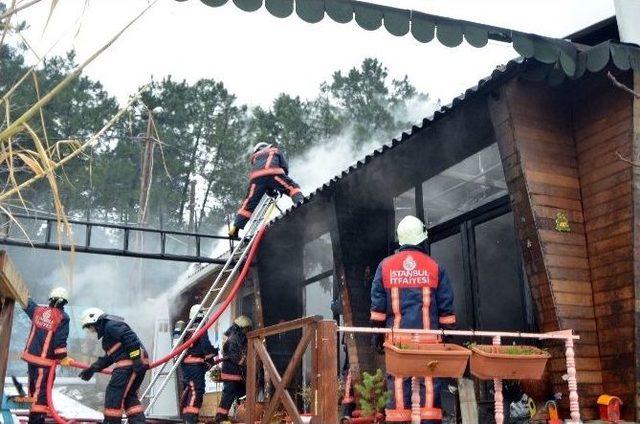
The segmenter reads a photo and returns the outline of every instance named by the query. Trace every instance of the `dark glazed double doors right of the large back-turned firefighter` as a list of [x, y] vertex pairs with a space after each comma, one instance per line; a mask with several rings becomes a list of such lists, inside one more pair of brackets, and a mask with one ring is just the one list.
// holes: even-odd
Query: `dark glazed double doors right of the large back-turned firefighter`
[[447, 270], [460, 329], [532, 330], [508, 198], [431, 229], [431, 255]]

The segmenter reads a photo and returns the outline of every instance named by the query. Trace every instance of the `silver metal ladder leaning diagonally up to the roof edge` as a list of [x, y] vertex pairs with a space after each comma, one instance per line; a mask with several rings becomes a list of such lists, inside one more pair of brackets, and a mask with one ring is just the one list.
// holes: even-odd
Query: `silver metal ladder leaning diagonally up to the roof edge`
[[[258, 229], [261, 227], [261, 225], [264, 222], [269, 220], [269, 216], [271, 215], [271, 212], [275, 207], [275, 204], [276, 204], [276, 199], [266, 194], [262, 197], [262, 199], [260, 199], [260, 203], [258, 203], [258, 206], [256, 207], [255, 211], [251, 215], [251, 219], [247, 223], [245, 235], [233, 247], [231, 254], [229, 255], [229, 258], [227, 259], [225, 264], [222, 266], [222, 269], [218, 271], [217, 266], [209, 265], [200, 269], [195, 274], [189, 276], [189, 280], [191, 282], [195, 282], [200, 280], [201, 278], [205, 278], [213, 274], [214, 272], [218, 271], [218, 275], [215, 281], [213, 282], [213, 284], [209, 288], [209, 291], [207, 292], [207, 294], [202, 299], [202, 302], [200, 303], [201, 306], [200, 306], [200, 310], [198, 311], [198, 314], [202, 312], [203, 318], [200, 320], [200, 322], [197, 325], [195, 325], [195, 327], [194, 327], [194, 324], [195, 324], [196, 318], [194, 317], [189, 320], [189, 323], [185, 326], [182, 334], [180, 334], [180, 337], [176, 341], [176, 346], [182, 344], [182, 342], [185, 341], [185, 338], [189, 329], [193, 329], [194, 332], [196, 332], [199, 329], [201, 329], [209, 320], [209, 318], [211, 317], [211, 314], [216, 309], [216, 305], [223, 299], [223, 295], [227, 292], [229, 287], [232, 285], [233, 280], [236, 274], [238, 273], [238, 270], [240, 269], [242, 263], [244, 262], [244, 259], [246, 258], [247, 254], [249, 253], [249, 250], [251, 249], [251, 247], [255, 242]], [[196, 314], [196, 316], [198, 314]], [[151, 410], [153, 405], [157, 402], [165, 386], [171, 380], [173, 374], [176, 372], [176, 370], [178, 369], [178, 366], [186, 356], [187, 350], [184, 350], [180, 354], [180, 356], [178, 356], [176, 359], [173, 360], [173, 364], [171, 365], [171, 368], [169, 369], [168, 372], [164, 372], [164, 369], [172, 361], [168, 361], [162, 364], [162, 367], [159, 370], [157, 370], [157, 372], [151, 379], [149, 386], [147, 386], [144, 393], [142, 394], [143, 399], [149, 397], [149, 404], [145, 410], [145, 414], [147, 414]], [[158, 380], [160, 379], [159, 378], [160, 376], [163, 376], [164, 378], [162, 379], [162, 382], [160, 383], [159, 388], [157, 390], [154, 390], [153, 395], [150, 396], [150, 392], [152, 388], [155, 386], [155, 384], [158, 382]]]

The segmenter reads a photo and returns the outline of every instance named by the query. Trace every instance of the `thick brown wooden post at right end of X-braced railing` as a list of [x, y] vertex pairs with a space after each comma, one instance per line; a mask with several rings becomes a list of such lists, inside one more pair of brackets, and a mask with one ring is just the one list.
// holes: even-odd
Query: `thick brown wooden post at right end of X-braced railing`
[[318, 350], [318, 405], [319, 423], [338, 422], [338, 358], [337, 325], [335, 321], [320, 321], [316, 332]]

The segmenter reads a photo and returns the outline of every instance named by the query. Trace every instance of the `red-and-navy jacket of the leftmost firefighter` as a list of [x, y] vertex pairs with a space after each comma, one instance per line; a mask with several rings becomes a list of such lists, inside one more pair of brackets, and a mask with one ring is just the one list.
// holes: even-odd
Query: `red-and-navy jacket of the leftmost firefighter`
[[38, 305], [29, 298], [24, 310], [31, 319], [31, 331], [22, 359], [33, 365], [51, 366], [67, 356], [69, 315], [56, 307]]

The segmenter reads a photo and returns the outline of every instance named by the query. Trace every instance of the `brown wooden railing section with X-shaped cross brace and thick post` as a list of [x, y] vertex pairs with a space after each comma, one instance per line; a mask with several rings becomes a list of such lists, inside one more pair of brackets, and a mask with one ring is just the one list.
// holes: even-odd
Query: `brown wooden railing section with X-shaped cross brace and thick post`
[[[293, 352], [291, 360], [284, 374], [281, 376], [274, 365], [265, 346], [265, 338], [293, 330], [302, 329], [302, 337]], [[302, 417], [296, 407], [287, 386], [293, 379], [302, 358], [311, 347], [311, 404], [312, 423], [335, 423], [338, 421], [337, 409], [337, 326], [335, 321], [324, 321], [319, 316], [300, 318], [271, 327], [261, 328], [247, 334], [247, 422], [255, 423], [260, 420], [269, 423], [282, 403], [291, 420], [301, 424]], [[257, 395], [257, 366], [258, 360], [265, 369], [265, 378], [269, 378], [273, 385], [273, 393], [267, 403], [262, 417], [256, 416]]]

